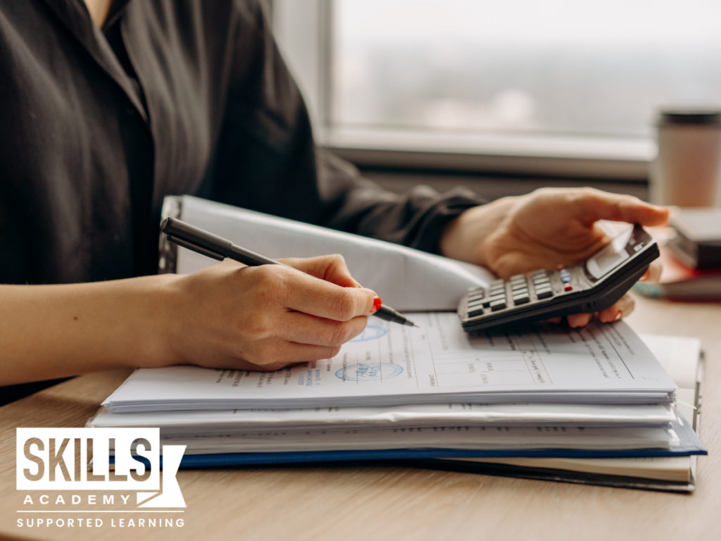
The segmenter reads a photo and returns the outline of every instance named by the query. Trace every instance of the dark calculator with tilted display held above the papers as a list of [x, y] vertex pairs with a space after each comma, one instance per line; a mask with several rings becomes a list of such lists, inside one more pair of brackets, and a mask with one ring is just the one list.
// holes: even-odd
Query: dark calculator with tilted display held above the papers
[[611, 307], [658, 258], [658, 245], [640, 225], [617, 234], [579, 265], [516, 274], [468, 291], [459, 302], [464, 330], [547, 320]]

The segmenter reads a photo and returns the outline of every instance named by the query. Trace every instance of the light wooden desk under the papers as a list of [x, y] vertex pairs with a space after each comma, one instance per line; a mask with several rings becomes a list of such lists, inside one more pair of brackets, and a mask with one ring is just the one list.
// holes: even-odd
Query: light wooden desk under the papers
[[721, 305], [639, 299], [629, 322], [640, 333], [700, 336], [707, 351], [701, 436], [709, 456], [699, 459], [691, 496], [403, 467], [181, 470], [182, 528], [118, 529], [110, 518], [102, 529], [18, 528], [14, 429], [83, 426], [123, 381], [118, 371], [0, 408], [0, 538], [721, 539]]

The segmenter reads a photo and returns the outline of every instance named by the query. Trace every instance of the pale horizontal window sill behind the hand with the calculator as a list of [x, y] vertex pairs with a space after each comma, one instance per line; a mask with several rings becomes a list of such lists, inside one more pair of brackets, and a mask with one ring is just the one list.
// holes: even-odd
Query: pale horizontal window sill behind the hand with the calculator
[[489, 136], [327, 128], [319, 142], [361, 167], [404, 167], [510, 175], [646, 182], [655, 143], [647, 139]]

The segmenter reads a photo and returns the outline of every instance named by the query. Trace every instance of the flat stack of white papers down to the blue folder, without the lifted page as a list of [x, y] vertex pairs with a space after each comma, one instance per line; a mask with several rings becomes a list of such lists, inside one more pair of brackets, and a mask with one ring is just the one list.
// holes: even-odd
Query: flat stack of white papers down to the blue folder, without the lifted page
[[159, 426], [187, 445], [184, 465], [705, 453], [624, 322], [474, 336], [454, 313], [413, 318], [273, 373], [139, 369], [89, 424]]

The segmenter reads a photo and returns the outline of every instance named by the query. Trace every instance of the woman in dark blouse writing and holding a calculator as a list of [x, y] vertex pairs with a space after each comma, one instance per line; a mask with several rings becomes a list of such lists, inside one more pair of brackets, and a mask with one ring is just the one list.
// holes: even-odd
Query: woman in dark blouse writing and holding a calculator
[[[482, 205], [392, 195], [316, 149], [257, 1], [0, 7], [0, 384], [112, 366], [277, 369], [327, 358], [378, 306], [337, 256], [152, 276], [159, 209], [190, 193], [486, 265], [570, 265], [598, 219], [663, 208], [597, 190]], [[629, 312], [622, 299], [601, 312]], [[591, 315], [568, 318], [585, 325]]]

